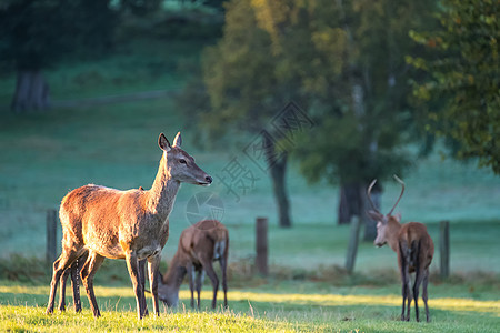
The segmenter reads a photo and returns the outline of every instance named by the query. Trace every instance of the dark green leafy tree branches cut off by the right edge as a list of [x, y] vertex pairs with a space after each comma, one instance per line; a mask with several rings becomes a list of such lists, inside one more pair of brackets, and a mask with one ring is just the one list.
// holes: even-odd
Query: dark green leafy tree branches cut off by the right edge
[[438, 29], [411, 32], [428, 53], [408, 62], [427, 74], [413, 81], [426, 130], [458, 143], [456, 158], [479, 158], [500, 174], [497, 12], [498, 1], [443, 0]]

